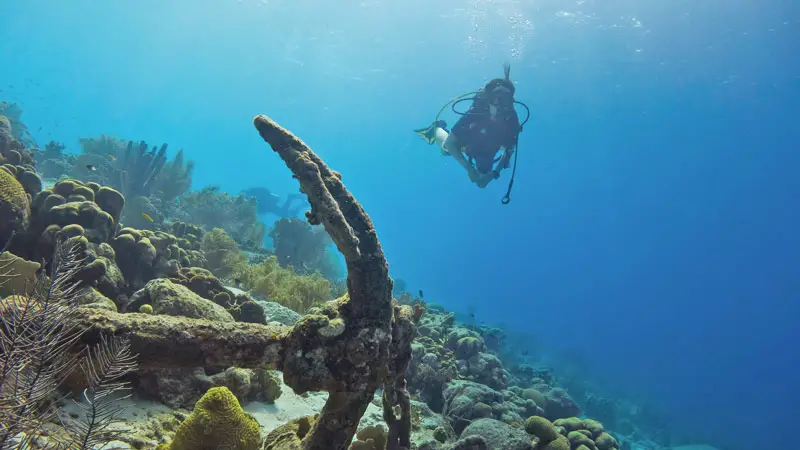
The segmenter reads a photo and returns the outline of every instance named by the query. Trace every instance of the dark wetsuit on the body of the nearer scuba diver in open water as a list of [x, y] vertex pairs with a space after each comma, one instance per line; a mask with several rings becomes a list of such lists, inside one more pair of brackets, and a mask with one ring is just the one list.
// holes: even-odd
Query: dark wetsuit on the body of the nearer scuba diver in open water
[[497, 109], [492, 117], [488, 94], [485, 91], [480, 92], [475, 96], [467, 113], [456, 122], [451, 131], [457, 139], [460, 150], [481, 173], [492, 171], [494, 157], [501, 147], [505, 147], [507, 152], [516, 148], [520, 131], [513, 96], [501, 98], [494, 106]]

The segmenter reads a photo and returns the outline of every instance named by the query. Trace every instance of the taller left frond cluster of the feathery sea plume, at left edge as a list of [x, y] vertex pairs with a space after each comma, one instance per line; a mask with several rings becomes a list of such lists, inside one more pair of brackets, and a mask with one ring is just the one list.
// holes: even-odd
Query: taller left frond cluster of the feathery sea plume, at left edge
[[[30, 296], [0, 300], [0, 448], [25, 433], [19, 448], [55, 417], [53, 395], [77, 367], [70, 350], [82, 330], [75, 326], [80, 248], [71, 241], [56, 246], [51, 279], [40, 275]], [[5, 278], [15, 276], [3, 267]]]

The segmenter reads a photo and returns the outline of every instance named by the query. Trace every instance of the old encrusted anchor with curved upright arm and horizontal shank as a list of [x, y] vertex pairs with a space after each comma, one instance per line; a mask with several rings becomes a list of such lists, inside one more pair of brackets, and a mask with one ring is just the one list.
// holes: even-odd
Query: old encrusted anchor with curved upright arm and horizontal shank
[[82, 323], [88, 331], [81, 340], [127, 337], [143, 367], [269, 367], [283, 371], [285, 383], [298, 394], [327, 391], [318, 419], [302, 437], [304, 450], [346, 449], [382, 386], [387, 448], [408, 449], [411, 412], [405, 371], [411, 359], [413, 313], [409, 306], [392, 302], [388, 264], [372, 222], [341, 175], [300, 139], [265, 116], [254, 122], [309, 197], [309, 222], [324, 225], [344, 255], [348, 295], [292, 328], [85, 310]]

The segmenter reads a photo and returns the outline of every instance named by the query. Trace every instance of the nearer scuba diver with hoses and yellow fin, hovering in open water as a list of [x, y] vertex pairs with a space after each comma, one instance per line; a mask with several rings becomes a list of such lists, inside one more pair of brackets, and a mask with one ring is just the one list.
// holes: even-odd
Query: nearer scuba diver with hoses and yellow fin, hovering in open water
[[[511, 66], [503, 65], [503, 78], [495, 78], [482, 89], [460, 95], [447, 102], [427, 128], [414, 130], [428, 144], [438, 142], [442, 154], [452, 156], [469, 175], [469, 179], [480, 188], [500, 177], [500, 172], [509, 167], [511, 156], [516, 155], [517, 141], [522, 126], [530, 117], [527, 105], [514, 100], [514, 84], [511, 82]], [[471, 97], [470, 97], [471, 96]], [[462, 101], [472, 100], [467, 112], [455, 110]], [[528, 117], [519, 121], [514, 105], [525, 108]], [[447, 123], [439, 120], [445, 108], [452, 105], [453, 112], [461, 115], [453, 129], [447, 130]], [[503, 150], [500, 156], [497, 153]], [[496, 165], [495, 165], [496, 164]], [[514, 184], [516, 159], [512, 170], [508, 192], [503, 204], [511, 201], [511, 187]]]

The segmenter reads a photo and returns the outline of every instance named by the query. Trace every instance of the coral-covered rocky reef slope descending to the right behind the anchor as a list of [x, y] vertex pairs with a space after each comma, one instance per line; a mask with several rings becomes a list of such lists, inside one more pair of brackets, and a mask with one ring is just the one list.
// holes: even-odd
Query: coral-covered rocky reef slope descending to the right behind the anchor
[[[308, 161], [330, 196], [303, 185], [307, 167], [289, 159], [301, 188], [312, 192], [309, 220], [282, 218], [267, 230], [254, 199], [213, 186], [193, 191], [194, 165], [183, 151], [169, 159], [166, 145], [109, 136], [80, 139], [74, 152], [55, 142], [40, 148], [19, 108], [4, 104], [0, 114], [0, 448], [309, 448], [315, 433], [341, 438], [325, 411], [335, 409], [332, 396], [356, 395], [359, 386], [368, 398], [355, 437], [344, 444], [353, 450], [703, 448], [680, 447], [693, 438], [642, 405], [521, 362], [504, 330], [458, 323], [441, 306], [395, 289], [393, 310], [386, 303], [373, 314], [388, 312], [387, 322], [370, 323], [367, 315], [357, 323], [392, 334], [376, 337], [385, 345], [367, 353], [376, 365], [389, 361], [387, 370], [401, 380], [396, 391], [410, 397], [404, 407], [394, 387], [387, 391], [388, 378], [375, 379], [386, 371], [371, 372], [371, 359], [353, 356], [363, 349], [350, 343], [362, 337], [349, 335], [356, 319], [348, 314], [362, 301], [363, 275], [350, 273], [345, 283], [331, 244], [344, 249], [353, 270], [382, 263], [365, 262], [363, 249], [351, 253], [347, 237], [328, 237], [337, 223], [325, 218], [326, 202], [344, 195], [341, 175], [315, 156]], [[269, 130], [259, 131], [272, 145]], [[364, 222], [343, 217], [352, 229]], [[263, 248], [266, 235], [273, 249]], [[354, 235], [362, 241], [353, 248], [366, 245], [364, 234]], [[69, 301], [56, 303], [62, 297]], [[51, 311], [54, 304], [61, 309]], [[73, 319], [87, 325], [75, 325], [80, 337], [63, 338], [70, 349], [99, 345], [87, 347], [99, 350], [86, 358], [81, 353], [88, 363], [61, 366], [48, 355], [67, 346], [29, 342], [26, 333], [34, 331], [37, 339], [62, 336]], [[412, 320], [413, 341], [393, 348], [405, 342]], [[96, 336], [102, 330], [129, 339], [107, 344]], [[262, 354], [254, 356], [255, 347]], [[340, 350], [349, 356], [335, 359]], [[117, 372], [115, 355], [129, 362]], [[341, 381], [350, 372], [352, 380]], [[84, 435], [92, 439], [75, 438]]]

